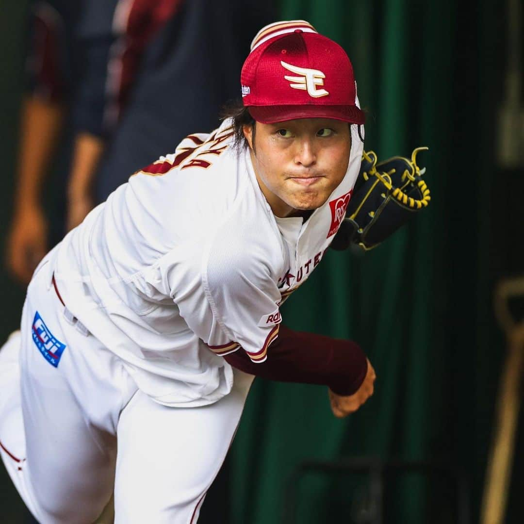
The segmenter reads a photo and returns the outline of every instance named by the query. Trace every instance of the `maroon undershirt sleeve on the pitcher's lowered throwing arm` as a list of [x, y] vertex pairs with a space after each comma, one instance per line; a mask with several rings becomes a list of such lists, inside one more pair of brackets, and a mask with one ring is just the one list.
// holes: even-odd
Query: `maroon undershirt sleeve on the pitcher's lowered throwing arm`
[[366, 355], [355, 342], [293, 331], [282, 324], [265, 362], [252, 362], [242, 348], [224, 358], [233, 367], [257, 377], [323, 384], [337, 395], [352, 395], [367, 372]]

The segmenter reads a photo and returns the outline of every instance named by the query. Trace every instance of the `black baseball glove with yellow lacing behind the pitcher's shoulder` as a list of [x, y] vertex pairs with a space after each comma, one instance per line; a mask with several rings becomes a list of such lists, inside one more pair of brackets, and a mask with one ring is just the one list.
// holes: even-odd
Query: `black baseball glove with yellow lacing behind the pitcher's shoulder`
[[347, 249], [351, 244], [372, 249], [428, 206], [429, 188], [422, 180], [425, 168], [416, 162], [417, 153], [427, 149], [415, 149], [411, 160], [392, 157], [378, 163], [373, 151], [364, 151], [345, 218], [331, 243], [333, 249]]

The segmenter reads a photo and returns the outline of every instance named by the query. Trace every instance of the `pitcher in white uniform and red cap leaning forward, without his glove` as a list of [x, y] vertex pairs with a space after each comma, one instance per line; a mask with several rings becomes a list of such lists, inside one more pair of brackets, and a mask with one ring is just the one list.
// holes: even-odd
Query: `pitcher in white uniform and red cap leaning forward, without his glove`
[[350, 60], [279, 22], [241, 81], [242, 107], [135, 173], [35, 270], [0, 352], [0, 454], [42, 524], [92, 522], [113, 492], [117, 523], [196, 522], [254, 376], [327, 385], [337, 417], [373, 392], [357, 344], [280, 313], [359, 171]]

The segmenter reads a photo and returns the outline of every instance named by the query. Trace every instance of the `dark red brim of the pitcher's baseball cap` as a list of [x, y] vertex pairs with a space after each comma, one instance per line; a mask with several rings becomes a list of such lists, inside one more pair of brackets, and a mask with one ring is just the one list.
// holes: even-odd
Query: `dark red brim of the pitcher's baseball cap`
[[275, 124], [297, 118], [332, 118], [364, 124], [366, 115], [355, 105], [251, 105], [249, 114], [262, 124]]

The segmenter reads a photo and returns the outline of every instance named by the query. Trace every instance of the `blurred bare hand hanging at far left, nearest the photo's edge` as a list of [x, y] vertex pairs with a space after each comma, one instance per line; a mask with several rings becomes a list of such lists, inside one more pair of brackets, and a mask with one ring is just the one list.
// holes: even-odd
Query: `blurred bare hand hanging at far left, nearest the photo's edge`
[[47, 253], [48, 223], [42, 209], [27, 205], [15, 213], [7, 238], [7, 268], [23, 283]]

